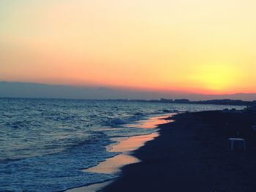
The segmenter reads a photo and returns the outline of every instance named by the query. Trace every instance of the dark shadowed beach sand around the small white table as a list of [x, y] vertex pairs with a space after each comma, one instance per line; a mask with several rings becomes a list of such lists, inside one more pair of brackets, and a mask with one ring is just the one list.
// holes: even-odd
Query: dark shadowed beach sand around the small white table
[[[160, 136], [133, 155], [103, 191], [256, 191], [256, 114], [194, 112], [160, 126]], [[246, 139], [230, 151], [229, 137]]]

